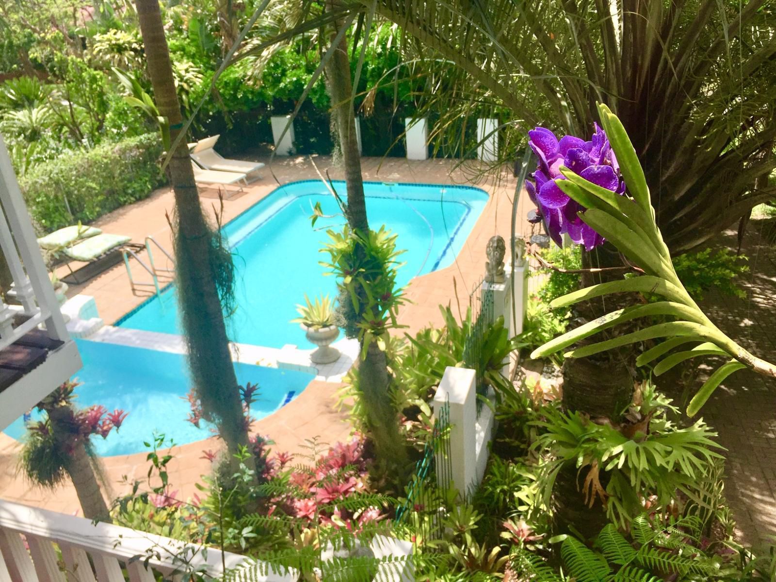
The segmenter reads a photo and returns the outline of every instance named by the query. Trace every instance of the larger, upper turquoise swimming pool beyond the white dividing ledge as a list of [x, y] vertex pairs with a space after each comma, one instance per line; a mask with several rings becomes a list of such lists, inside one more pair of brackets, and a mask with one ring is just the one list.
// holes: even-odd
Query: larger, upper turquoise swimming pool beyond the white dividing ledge
[[[334, 189], [346, 196], [345, 182]], [[397, 277], [404, 286], [414, 276], [451, 265], [487, 202], [487, 193], [464, 186], [364, 184], [372, 228], [385, 224], [397, 234], [397, 248], [407, 249]], [[319, 219], [310, 227], [313, 206], [337, 215], [337, 203], [320, 180], [293, 182], [275, 189], [224, 227], [237, 267], [237, 311], [228, 322], [232, 341], [282, 348], [313, 347], [298, 324], [296, 304], [329, 294], [334, 277], [319, 264], [327, 228], [341, 229], [339, 216]], [[126, 314], [116, 325], [180, 334], [175, 286]]]

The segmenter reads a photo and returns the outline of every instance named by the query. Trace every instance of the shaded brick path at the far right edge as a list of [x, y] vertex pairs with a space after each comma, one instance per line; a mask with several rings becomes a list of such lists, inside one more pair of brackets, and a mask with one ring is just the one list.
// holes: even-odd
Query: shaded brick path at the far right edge
[[[743, 299], [708, 293], [701, 307], [744, 348], [776, 362], [776, 220], [753, 220], [743, 241], [750, 271]], [[736, 231], [720, 246], [736, 250]], [[708, 374], [708, 368], [705, 369]], [[726, 447], [725, 495], [742, 542], [776, 542], [776, 379], [741, 370], [726, 379], [701, 411]]]

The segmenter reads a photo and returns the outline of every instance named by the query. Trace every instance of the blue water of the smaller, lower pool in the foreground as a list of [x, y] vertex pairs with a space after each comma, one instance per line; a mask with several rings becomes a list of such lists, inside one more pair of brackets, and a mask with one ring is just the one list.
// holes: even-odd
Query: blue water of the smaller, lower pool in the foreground
[[[76, 340], [84, 367], [74, 379], [81, 382], [75, 389], [78, 407], [102, 404], [108, 411], [122, 408], [128, 416], [120, 431], [111, 431], [108, 438], [92, 437], [96, 452], [101, 456], [128, 455], [147, 450], [143, 442], [151, 440], [154, 431], [164, 433], [178, 445], [211, 436], [206, 423], [196, 428], [189, 416], [189, 369], [180, 354], [158, 352], [144, 348], [106, 344], [99, 341]], [[234, 364], [237, 381], [257, 383], [256, 402], [251, 414], [258, 420], [277, 411], [299, 396], [313, 374], [265, 368], [258, 365]], [[40, 418], [33, 411], [33, 420]], [[23, 418], [5, 429], [5, 434], [20, 438], [24, 433]]]

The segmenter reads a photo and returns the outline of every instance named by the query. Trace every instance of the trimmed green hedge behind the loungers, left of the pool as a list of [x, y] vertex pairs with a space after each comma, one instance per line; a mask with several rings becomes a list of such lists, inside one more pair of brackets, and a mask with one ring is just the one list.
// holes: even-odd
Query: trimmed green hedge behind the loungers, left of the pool
[[158, 133], [146, 133], [47, 161], [20, 180], [29, 213], [50, 232], [147, 198], [165, 183], [161, 153]]

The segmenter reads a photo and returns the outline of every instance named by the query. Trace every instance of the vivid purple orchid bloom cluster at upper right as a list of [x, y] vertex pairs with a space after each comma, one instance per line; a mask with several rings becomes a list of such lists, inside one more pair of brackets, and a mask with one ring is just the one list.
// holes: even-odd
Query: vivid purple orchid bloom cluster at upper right
[[566, 196], [557, 182], [566, 179], [560, 173], [560, 167], [566, 166], [602, 188], [625, 193], [625, 182], [604, 130], [596, 123], [590, 141], [570, 135], [558, 140], [552, 131], [537, 127], [528, 132], [528, 146], [539, 158], [539, 166], [532, 174], [533, 182], [525, 182], [528, 196], [537, 209], [532, 221], [541, 220], [558, 246], [563, 246], [563, 234], [568, 234], [576, 244], [584, 244], [587, 251], [603, 244], [604, 237], [579, 217], [584, 206]]

